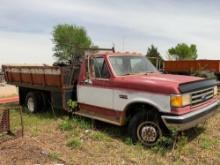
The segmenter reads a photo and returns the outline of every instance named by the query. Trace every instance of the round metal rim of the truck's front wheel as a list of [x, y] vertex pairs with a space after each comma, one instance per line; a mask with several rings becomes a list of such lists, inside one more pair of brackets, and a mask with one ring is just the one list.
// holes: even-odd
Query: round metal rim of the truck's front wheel
[[150, 121], [141, 123], [137, 128], [137, 136], [141, 143], [145, 145], [154, 144], [160, 137], [161, 131], [157, 124]]

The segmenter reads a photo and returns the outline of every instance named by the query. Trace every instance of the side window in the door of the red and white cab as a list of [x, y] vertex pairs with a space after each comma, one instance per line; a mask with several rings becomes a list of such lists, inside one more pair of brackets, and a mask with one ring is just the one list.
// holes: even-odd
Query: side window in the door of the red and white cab
[[95, 78], [110, 78], [107, 64], [103, 57], [97, 57], [91, 61], [91, 75]]

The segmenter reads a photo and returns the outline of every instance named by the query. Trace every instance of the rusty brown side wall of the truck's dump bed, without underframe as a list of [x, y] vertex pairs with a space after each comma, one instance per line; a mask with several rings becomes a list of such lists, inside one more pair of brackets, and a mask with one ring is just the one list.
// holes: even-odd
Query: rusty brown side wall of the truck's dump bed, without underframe
[[69, 67], [4, 65], [2, 68], [9, 84], [59, 90], [72, 87], [68, 82]]

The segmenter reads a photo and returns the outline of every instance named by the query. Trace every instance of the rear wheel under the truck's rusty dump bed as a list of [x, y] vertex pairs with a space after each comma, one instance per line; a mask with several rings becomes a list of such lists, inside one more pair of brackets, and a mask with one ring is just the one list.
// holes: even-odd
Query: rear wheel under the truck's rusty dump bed
[[27, 108], [28, 112], [36, 113], [39, 111], [40, 108], [40, 101], [39, 97], [34, 92], [29, 92], [25, 98], [25, 107]]

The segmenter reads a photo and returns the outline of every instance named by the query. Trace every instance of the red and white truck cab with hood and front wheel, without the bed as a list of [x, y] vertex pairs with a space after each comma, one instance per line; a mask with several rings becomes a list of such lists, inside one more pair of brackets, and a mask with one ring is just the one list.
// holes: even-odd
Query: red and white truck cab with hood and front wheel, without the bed
[[88, 57], [77, 84], [82, 116], [128, 124], [134, 142], [152, 145], [165, 132], [183, 131], [217, 110], [217, 81], [163, 74], [141, 54]]

